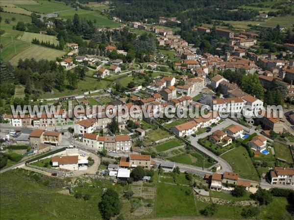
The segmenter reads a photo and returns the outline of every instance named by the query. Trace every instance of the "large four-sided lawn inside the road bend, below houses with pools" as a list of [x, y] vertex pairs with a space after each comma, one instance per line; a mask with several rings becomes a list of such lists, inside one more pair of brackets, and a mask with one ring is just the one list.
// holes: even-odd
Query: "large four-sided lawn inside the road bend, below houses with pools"
[[259, 180], [256, 169], [253, 166], [252, 160], [245, 147], [238, 147], [221, 155], [233, 168], [235, 173], [240, 177], [252, 180]]

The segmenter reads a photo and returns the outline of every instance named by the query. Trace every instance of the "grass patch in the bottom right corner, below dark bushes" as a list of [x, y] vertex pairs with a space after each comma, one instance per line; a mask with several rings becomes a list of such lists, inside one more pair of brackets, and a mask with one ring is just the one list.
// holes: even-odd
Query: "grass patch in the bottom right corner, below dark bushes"
[[287, 207], [294, 212], [294, 206], [288, 203], [286, 198], [273, 197], [272, 202], [269, 205], [264, 205], [261, 208], [259, 219], [289, 219], [291, 220], [290, 213], [287, 211]]

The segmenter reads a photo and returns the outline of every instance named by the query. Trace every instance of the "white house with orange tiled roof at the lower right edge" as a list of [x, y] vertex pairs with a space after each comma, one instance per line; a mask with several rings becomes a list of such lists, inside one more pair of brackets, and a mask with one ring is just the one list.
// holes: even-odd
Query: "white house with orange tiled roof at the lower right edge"
[[274, 168], [270, 171], [270, 184], [294, 186], [294, 168]]

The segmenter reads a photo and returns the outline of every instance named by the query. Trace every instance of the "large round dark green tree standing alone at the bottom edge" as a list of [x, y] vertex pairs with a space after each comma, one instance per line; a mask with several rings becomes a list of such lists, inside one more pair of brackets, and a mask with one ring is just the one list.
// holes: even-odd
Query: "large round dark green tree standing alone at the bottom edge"
[[107, 189], [98, 204], [99, 211], [104, 220], [110, 220], [112, 217], [119, 215], [122, 206], [120, 196], [114, 189]]

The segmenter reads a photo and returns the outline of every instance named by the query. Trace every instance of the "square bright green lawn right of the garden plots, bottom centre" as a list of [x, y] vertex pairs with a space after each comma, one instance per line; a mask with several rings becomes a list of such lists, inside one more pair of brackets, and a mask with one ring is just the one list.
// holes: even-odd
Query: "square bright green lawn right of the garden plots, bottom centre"
[[187, 195], [191, 187], [175, 186], [164, 183], [157, 185], [155, 215], [163, 216], [193, 216], [196, 214], [193, 194]]

